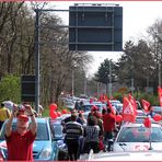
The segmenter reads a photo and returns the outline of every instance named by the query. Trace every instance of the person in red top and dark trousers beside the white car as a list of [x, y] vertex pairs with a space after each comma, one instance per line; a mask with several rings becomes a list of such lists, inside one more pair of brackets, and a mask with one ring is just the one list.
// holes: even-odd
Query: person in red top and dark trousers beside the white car
[[111, 108], [107, 108], [106, 114], [103, 115], [103, 127], [104, 127], [104, 142], [106, 144], [108, 140], [107, 151], [111, 151], [113, 144], [113, 134], [116, 128], [116, 117], [112, 113]]

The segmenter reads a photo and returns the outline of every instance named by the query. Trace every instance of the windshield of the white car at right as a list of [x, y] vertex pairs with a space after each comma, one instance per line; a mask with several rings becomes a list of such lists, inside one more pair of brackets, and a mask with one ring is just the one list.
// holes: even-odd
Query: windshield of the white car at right
[[117, 142], [162, 142], [162, 129], [152, 127], [151, 132], [146, 127], [124, 127]]

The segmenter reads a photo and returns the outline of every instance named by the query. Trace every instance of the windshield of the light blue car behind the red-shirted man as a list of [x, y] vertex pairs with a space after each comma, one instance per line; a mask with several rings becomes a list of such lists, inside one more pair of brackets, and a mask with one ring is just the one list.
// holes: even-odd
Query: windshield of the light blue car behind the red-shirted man
[[[5, 126], [4, 126], [5, 127]], [[0, 132], [0, 140], [4, 140], [4, 127]], [[12, 129], [15, 130], [15, 123], [12, 125]], [[44, 123], [37, 124], [37, 135], [35, 140], [49, 140], [49, 135], [47, 130], [47, 125]]]

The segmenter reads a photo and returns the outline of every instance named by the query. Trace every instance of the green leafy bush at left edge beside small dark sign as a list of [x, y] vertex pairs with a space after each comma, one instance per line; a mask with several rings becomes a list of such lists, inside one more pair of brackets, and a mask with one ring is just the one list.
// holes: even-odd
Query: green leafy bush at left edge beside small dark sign
[[20, 77], [7, 76], [0, 82], [0, 101], [11, 100], [14, 103], [21, 101]]

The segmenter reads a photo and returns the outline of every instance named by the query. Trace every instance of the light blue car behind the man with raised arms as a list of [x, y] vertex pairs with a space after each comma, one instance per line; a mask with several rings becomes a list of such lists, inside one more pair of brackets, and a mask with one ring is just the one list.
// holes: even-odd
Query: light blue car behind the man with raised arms
[[[5, 121], [7, 123], [7, 121]], [[4, 141], [5, 123], [0, 131], [0, 142]], [[57, 160], [58, 147], [54, 140], [50, 129], [49, 118], [36, 118], [37, 134], [33, 143], [33, 158], [34, 160], [49, 161]], [[16, 118], [13, 119], [12, 128], [15, 129]], [[5, 151], [5, 157], [8, 152]]]

